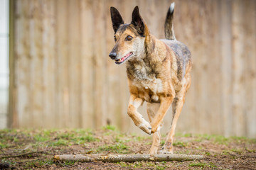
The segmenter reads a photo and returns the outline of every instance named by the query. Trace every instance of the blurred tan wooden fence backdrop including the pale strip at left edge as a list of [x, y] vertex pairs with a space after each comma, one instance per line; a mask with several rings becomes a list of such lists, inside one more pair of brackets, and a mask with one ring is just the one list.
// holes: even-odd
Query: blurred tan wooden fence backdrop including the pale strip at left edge
[[[134, 6], [156, 38], [175, 1], [177, 40], [192, 53], [192, 84], [177, 132], [256, 137], [255, 0], [0, 0], [0, 128], [101, 128], [142, 133], [127, 115], [125, 65], [110, 6]], [[139, 111], [146, 118], [145, 104]], [[171, 109], [162, 132], [171, 125]]]

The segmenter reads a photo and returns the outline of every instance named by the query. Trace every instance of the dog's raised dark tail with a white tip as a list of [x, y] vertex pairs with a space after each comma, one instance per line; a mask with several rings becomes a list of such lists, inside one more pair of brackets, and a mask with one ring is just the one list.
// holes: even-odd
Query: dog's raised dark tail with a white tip
[[166, 15], [166, 22], [164, 24], [164, 34], [167, 40], [176, 40], [174, 35], [174, 2], [171, 3]]

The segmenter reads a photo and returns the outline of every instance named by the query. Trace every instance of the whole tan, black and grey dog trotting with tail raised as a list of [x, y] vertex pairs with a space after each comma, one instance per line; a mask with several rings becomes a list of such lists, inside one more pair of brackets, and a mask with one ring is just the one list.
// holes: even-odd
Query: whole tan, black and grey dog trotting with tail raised
[[[129, 83], [128, 115], [137, 127], [151, 135], [153, 143], [149, 154], [173, 153], [174, 131], [181, 113], [185, 94], [191, 85], [191, 52], [174, 35], [174, 3], [165, 21], [165, 38], [159, 40], [149, 33], [136, 6], [132, 22], [124, 23], [116, 8], [111, 7], [115, 45], [110, 58], [116, 64], [127, 63]], [[148, 123], [137, 111], [146, 101]], [[159, 152], [160, 128], [164, 115], [172, 104], [173, 120], [166, 142]]]

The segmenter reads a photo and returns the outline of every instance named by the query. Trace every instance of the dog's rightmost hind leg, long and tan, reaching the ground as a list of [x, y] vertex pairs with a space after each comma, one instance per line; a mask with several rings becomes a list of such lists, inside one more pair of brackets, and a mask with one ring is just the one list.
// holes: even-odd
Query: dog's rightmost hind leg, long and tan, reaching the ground
[[178, 117], [181, 114], [181, 109], [185, 102], [186, 91], [188, 91], [188, 88], [190, 85], [191, 85], [191, 77], [188, 76], [187, 78], [183, 79], [183, 86], [181, 87], [181, 90], [178, 91], [178, 93], [176, 93], [174, 102], [172, 103], [172, 110], [174, 115], [173, 115], [173, 120], [171, 122], [171, 130], [166, 137], [166, 142], [164, 146], [161, 148], [160, 153], [173, 154], [175, 128], [178, 121]]

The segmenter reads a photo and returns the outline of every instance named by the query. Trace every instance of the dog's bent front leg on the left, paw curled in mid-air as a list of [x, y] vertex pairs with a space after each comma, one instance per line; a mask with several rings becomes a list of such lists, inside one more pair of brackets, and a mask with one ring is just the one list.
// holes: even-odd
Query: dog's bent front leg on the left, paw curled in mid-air
[[142, 117], [142, 115], [137, 111], [137, 108], [141, 106], [143, 103], [142, 98], [137, 98], [131, 94], [129, 99], [129, 106], [128, 106], [128, 115], [134, 121], [134, 124], [137, 127], [141, 128], [144, 132], [151, 135], [151, 126], [150, 124]]

